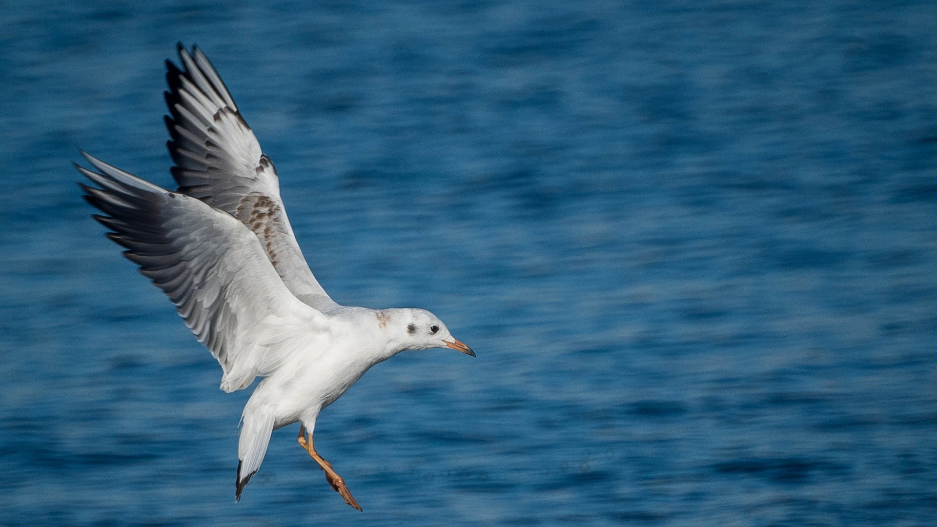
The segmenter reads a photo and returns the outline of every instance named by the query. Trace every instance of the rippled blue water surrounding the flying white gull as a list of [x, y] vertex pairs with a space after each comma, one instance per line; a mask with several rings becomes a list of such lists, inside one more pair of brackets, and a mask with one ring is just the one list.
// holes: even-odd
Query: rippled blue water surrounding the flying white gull
[[[0, 524], [933, 523], [937, 6], [309, 4], [0, 7]], [[79, 198], [171, 185], [177, 39], [333, 297], [478, 352], [321, 415], [364, 514], [293, 427], [233, 503], [249, 394]]]

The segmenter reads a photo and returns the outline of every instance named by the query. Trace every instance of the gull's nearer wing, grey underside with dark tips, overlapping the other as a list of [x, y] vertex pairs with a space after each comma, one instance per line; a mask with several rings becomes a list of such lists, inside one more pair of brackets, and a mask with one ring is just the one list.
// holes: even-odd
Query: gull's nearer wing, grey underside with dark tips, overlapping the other
[[235, 218], [84, 157], [99, 173], [78, 170], [100, 187], [82, 185], [84, 199], [108, 215], [95, 218], [215, 355], [223, 390], [245, 388], [327, 334], [328, 316], [290, 293], [260, 240]]

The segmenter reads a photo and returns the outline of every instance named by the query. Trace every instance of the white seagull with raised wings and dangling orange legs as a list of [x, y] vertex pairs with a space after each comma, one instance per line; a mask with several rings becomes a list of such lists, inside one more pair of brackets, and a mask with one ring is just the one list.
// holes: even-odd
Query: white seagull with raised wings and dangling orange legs
[[262, 380], [245, 404], [234, 499], [257, 474], [275, 429], [299, 423], [297, 441], [346, 504], [362, 510], [313, 446], [323, 408], [364, 372], [406, 350], [452, 348], [475, 356], [424, 309], [341, 306], [305, 262], [280, 200], [279, 178], [215, 68], [198, 46], [166, 61], [166, 127], [175, 191], [82, 151], [79, 185], [107, 236], [170, 297], [221, 365], [231, 393]]

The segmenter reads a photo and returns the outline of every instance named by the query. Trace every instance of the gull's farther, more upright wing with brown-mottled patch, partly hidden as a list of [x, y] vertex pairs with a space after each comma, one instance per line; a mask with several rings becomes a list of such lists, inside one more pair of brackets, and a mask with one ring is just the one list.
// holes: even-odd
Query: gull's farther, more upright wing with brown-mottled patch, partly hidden
[[228, 88], [201, 50], [179, 44], [183, 69], [167, 60], [168, 143], [179, 192], [238, 218], [260, 238], [277, 274], [297, 298], [325, 310], [335, 302], [320, 286], [296, 243], [280, 200], [274, 163], [238, 112]]

